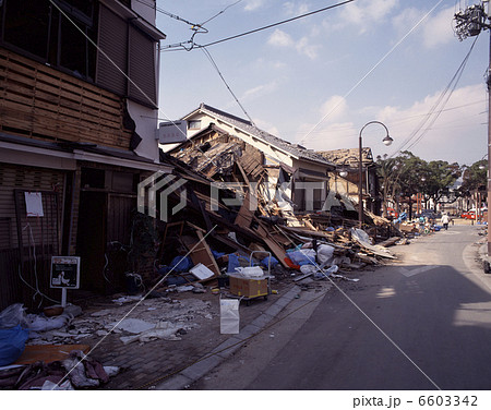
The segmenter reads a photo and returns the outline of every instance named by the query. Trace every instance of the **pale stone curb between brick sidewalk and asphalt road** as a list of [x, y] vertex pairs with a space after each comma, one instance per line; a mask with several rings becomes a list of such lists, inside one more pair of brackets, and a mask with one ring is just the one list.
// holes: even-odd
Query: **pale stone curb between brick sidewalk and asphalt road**
[[155, 386], [156, 390], [182, 390], [192, 383], [199, 381], [205, 374], [209, 373], [214, 367], [224, 360], [231, 357], [249, 338], [253, 337], [282, 312], [300, 292], [298, 286], [294, 286], [285, 294], [283, 294], [275, 303], [273, 303], [265, 312], [258, 316], [252, 323], [240, 329], [238, 335], [229, 337], [221, 342], [208, 354], [197, 360], [192, 365], [185, 367], [169, 379]]

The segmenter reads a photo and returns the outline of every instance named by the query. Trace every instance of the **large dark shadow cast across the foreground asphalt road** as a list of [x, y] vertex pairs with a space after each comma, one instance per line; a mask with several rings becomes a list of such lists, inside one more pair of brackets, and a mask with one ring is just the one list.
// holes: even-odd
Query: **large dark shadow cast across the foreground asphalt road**
[[451, 266], [404, 268], [343, 284], [363, 314], [331, 292], [248, 388], [490, 389], [491, 294]]

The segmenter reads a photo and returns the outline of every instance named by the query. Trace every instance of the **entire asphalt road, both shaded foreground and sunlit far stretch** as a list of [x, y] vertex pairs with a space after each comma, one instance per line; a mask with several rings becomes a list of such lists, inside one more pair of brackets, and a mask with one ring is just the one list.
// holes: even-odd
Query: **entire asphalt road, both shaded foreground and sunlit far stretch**
[[[301, 292], [283, 321], [193, 389], [491, 389], [491, 275], [480, 228], [392, 250], [399, 262], [331, 291]], [[247, 309], [247, 308], [246, 308]]]

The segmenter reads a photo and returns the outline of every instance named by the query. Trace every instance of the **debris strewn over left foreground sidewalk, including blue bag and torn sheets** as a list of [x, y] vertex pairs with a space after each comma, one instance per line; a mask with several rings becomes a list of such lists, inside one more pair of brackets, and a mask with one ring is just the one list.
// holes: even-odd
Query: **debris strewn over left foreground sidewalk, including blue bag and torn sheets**
[[91, 346], [106, 337], [111, 338], [109, 343], [121, 345], [181, 340], [217, 315], [209, 302], [168, 296], [172, 293], [120, 296], [84, 312], [72, 304], [40, 314], [26, 314], [20, 303], [7, 308], [0, 313], [0, 388], [97, 387], [120, 369], [86, 358]]

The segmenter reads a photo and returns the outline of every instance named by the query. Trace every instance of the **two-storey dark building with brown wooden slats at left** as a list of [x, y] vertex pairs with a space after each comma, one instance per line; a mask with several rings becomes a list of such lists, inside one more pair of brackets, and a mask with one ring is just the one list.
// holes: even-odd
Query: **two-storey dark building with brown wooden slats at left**
[[0, 0], [0, 308], [59, 299], [52, 255], [81, 256], [81, 288], [108, 290], [106, 251], [130, 242], [137, 183], [170, 171], [155, 12], [155, 0]]

